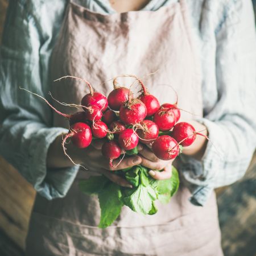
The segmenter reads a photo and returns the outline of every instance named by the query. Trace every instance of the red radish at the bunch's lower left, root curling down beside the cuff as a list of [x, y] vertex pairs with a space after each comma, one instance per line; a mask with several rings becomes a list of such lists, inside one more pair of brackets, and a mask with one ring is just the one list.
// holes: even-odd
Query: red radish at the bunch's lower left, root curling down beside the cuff
[[72, 143], [79, 148], [88, 147], [92, 142], [92, 131], [90, 130], [90, 126], [86, 125], [86, 123], [75, 123], [69, 130], [70, 132], [63, 140], [63, 145], [69, 137], [71, 137]]

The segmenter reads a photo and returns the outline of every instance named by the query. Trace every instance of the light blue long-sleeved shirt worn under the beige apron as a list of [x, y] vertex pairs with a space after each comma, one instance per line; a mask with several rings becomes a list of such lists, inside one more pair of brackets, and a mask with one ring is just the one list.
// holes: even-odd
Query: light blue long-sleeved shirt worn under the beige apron
[[[158, 10], [176, 0], [151, 0]], [[112, 14], [108, 0], [80, 0]], [[47, 199], [63, 197], [77, 167], [49, 170], [49, 145], [68, 130], [52, 127], [52, 111], [19, 86], [48, 98], [49, 57], [67, 0], [10, 1], [0, 59], [0, 154]], [[191, 201], [204, 205], [216, 187], [240, 179], [256, 144], [256, 37], [250, 0], [187, 0], [201, 53], [204, 118], [210, 142], [201, 161], [181, 155]]]

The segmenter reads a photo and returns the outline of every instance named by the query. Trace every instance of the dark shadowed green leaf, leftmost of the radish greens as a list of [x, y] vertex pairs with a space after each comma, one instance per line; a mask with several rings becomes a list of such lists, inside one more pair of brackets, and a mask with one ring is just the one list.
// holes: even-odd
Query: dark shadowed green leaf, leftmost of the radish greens
[[83, 193], [90, 195], [101, 192], [107, 183], [109, 183], [109, 179], [105, 176], [91, 176], [87, 180], [81, 180], [79, 188]]

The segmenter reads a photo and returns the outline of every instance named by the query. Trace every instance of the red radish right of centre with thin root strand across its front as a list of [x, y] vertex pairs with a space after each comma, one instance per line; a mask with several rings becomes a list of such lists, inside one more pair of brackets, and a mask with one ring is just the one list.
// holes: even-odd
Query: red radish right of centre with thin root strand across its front
[[159, 129], [153, 121], [143, 120], [136, 127], [139, 141], [141, 141], [142, 143], [149, 144], [153, 142], [156, 138], [158, 138]]

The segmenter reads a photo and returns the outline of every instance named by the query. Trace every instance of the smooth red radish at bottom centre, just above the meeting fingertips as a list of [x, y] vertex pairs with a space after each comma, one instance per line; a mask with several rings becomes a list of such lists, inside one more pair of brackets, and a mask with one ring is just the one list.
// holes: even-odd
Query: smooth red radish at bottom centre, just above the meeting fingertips
[[137, 147], [139, 137], [133, 129], [126, 129], [119, 133], [118, 142], [124, 150], [132, 150]]

